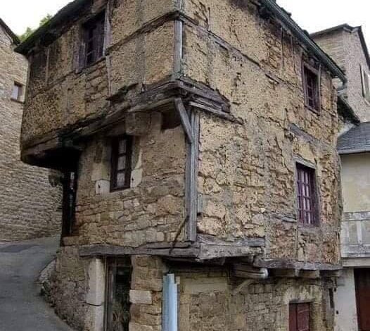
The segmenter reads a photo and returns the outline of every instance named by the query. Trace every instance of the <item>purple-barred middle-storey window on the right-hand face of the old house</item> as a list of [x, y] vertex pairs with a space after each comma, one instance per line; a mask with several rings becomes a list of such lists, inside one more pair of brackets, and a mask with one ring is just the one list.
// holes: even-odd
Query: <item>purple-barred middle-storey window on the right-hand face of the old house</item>
[[300, 163], [297, 163], [297, 199], [300, 223], [317, 224], [315, 172]]

